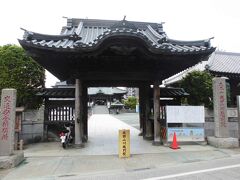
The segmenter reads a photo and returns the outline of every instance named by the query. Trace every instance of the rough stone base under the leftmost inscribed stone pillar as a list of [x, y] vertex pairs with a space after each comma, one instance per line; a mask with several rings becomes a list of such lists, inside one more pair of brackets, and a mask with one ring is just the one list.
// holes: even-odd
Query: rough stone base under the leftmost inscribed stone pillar
[[15, 151], [11, 156], [0, 156], [0, 169], [16, 167], [24, 160], [23, 151]]

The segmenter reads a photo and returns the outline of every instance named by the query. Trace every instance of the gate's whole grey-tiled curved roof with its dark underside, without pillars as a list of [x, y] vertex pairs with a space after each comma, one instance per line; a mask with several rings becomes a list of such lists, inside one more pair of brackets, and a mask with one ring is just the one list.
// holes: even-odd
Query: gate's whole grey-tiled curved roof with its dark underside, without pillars
[[[199, 41], [173, 40], [163, 30], [162, 23], [125, 19], [69, 18], [60, 35], [45, 35], [28, 30], [24, 32], [19, 43], [40, 65], [60, 80], [74, 79], [74, 76], [89, 79], [94, 76], [89, 71], [94, 73], [102, 68], [107, 74], [112, 69], [110, 67], [125, 72], [118, 79], [125, 79], [124, 75], [132, 79], [164, 79], [205, 60], [215, 50], [210, 45], [211, 38]], [[100, 62], [94, 59], [99, 59]], [[93, 61], [91, 66], [90, 61]], [[132, 71], [132, 66], [136, 68], [134, 74], [137, 77], [129, 72]], [[145, 69], [144, 75], [142, 66]], [[85, 77], [86, 70], [88, 77]], [[112, 78], [118, 76], [112, 71], [110, 73]], [[100, 76], [103, 75], [100, 73], [98, 76], [102, 79]], [[104, 79], [106, 77], [109, 75], [104, 75]]]

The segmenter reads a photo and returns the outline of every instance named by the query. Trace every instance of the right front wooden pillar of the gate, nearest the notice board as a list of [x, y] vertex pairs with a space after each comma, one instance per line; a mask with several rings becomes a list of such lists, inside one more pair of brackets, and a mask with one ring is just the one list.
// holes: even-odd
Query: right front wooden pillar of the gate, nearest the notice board
[[157, 82], [153, 87], [153, 106], [154, 106], [154, 140], [153, 145], [161, 144], [160, 137], [160, 88]]

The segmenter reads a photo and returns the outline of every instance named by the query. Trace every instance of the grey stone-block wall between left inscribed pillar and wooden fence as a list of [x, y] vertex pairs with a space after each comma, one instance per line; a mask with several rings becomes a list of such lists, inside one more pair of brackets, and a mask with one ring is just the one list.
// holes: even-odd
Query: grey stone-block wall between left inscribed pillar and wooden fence
[[19, 139], [24, 143], [34, 143], [43, 140], [44, 107], [39, 110], [26, 110], [22, 117], [22, 130]]

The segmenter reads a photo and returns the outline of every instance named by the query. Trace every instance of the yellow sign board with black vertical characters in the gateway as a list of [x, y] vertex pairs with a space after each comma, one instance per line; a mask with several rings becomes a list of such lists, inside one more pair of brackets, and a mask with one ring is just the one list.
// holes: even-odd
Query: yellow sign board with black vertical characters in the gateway
[[119, 158], [130, 157], [130, 130], [129, 129], [119, 130], [118, 146], [119, 146], [119, 151], [118, 151]]

